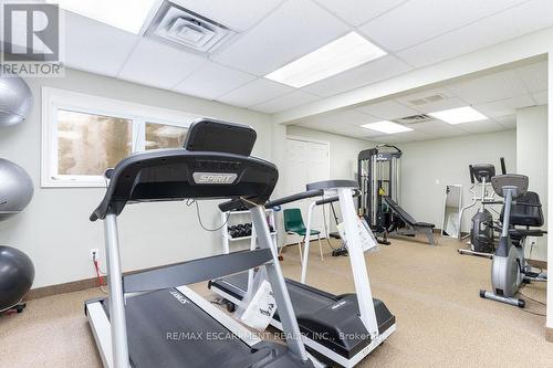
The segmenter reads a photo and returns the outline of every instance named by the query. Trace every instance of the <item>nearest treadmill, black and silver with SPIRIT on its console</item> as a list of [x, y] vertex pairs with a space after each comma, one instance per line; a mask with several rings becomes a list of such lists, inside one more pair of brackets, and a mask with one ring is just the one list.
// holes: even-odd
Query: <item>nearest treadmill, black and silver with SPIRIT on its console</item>
[[[139, 153], [106, 171], [109, 183], [91, 221], [104, 221], [109, 295], [85, 302], [85, 314], [105, 367], [314, 367], [305, 350], [264, 208], [278, 180], [271, 162], [250, 156], [250, 127], [202, 119], [186, 149]], [[124, 275], [117, 217], [129, 203], [233, 199], [247, 206], [260, 248]], [[144, 214], [147, 214], [145, 212]], [[286, 345], [267, 343], [194, 293], [186, 284], [264, 266]]]

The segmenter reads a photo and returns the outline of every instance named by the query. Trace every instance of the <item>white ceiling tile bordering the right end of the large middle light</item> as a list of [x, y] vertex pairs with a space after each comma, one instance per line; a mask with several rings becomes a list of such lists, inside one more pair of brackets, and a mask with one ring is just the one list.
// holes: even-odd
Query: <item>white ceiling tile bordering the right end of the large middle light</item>
[[524, 1], [411, 0], [359, 30], [388, 50], [399, 51]]

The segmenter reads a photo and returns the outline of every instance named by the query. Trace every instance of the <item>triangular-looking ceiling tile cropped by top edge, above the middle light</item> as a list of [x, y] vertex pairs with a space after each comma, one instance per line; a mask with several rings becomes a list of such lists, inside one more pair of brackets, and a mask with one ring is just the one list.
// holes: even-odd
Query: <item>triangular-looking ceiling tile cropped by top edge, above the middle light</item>
[[315, 0], [352, 25], [361, 25], [407, 0]]

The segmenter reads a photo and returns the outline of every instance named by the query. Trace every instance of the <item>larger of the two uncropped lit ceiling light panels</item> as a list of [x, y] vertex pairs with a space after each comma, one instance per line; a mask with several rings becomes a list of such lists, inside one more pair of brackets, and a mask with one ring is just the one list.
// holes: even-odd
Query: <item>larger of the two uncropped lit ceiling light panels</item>
[[385, 51], [359, 34], [351, 32], [265, 77], [300, 88], [384, 55]]

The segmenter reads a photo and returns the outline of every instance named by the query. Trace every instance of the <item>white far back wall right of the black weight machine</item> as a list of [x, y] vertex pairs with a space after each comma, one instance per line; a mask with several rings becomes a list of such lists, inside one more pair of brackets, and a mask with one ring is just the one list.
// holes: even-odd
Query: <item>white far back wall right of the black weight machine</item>
[[[501, 172], [500, 157], [505, 158], [507, 169], [515, 172], [515, 130], [479, 134], [437, 140], [414, 141], [397, 145], [401, 157], [401, 207], [417, 221], [441, 227], [444, 193], [447, 185], [462, 185], [463, 203], [471, 194], [469, 165], [493, 164]], [[467, 210], [462, 231], [470, 228], [470, 219], [477, 206]], [[499, 209], [499, 208], [498, 208]]]

